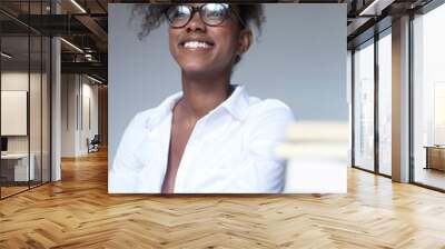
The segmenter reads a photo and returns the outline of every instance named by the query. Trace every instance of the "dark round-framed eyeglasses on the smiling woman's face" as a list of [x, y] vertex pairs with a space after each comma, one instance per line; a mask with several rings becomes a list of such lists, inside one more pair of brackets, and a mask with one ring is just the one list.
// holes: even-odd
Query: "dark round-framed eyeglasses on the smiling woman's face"
[[166, 17], [171, 28], [184, 28], [191, 20], [195, 12], [199, 12], [204, 23], [215, 27], [222, 24], [230, 11], [238, 18], [243, 28], [246, 27], [238, 13], [227, 3], [205, 3], [199, 7], [172, 6], [167, 9]]

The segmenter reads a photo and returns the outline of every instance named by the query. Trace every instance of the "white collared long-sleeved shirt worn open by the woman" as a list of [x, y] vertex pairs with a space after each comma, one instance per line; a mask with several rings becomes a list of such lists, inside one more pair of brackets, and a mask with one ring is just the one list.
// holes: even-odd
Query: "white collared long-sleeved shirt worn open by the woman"
[[[128, 124], [109, 170], [110, 193], [159, 193], [167, 171], [172, 108], [178, 92], [139, 112]], [[285, 162], [274, 150], [284, 140], [291, 110], [275, 99], [231, 96], [199, 119], [175, 181], [178, 193], [281, 192]]]

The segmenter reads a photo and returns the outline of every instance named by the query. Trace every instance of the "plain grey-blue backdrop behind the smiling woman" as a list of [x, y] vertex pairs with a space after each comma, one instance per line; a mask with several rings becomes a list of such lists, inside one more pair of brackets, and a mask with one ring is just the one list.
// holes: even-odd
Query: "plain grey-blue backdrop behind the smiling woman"
[[[167, 26], [140, 41], [132, 4], [109, 4], [109, 159], [139, 111], [180, 90]], [[346, 4], [265, 4], [267, 22], [233, 77], [250, 96], [277, 98], [297, 120], [348, 119]]]

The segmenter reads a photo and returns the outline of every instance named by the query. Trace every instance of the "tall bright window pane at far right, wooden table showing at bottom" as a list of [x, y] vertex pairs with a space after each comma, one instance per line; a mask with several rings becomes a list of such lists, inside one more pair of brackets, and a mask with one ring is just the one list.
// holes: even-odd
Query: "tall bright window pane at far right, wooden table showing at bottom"
[[445, 4], [414, 20], [414, 181], [445, 189]]

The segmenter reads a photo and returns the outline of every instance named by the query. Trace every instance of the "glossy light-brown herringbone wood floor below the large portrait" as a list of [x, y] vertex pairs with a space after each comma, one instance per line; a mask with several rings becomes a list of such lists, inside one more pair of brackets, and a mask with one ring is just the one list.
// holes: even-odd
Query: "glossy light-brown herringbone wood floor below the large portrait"
[[445, 195], [349, 170], [347, 195], [109, 196], [105, 152], [0, 201], [0, 248], [445, 248]]

